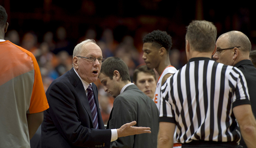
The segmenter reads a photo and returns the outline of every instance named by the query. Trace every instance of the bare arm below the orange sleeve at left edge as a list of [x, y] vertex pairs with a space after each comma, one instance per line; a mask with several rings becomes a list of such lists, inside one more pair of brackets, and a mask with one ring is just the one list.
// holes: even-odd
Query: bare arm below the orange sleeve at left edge
[[44, 112], [27, 113], [26, 120], [28, 124], [29, 138], [31, 139], [44, 120]]

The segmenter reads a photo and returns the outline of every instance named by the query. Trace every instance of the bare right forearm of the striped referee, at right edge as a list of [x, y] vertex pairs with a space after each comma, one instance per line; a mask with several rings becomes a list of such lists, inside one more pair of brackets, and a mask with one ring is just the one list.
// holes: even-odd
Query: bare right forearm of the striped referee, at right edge
[[233, 113], [238, 121], [241, 134], [248, 148], [256, 146], [256, 120], [250, 104], [238, 105], [233, 108]]

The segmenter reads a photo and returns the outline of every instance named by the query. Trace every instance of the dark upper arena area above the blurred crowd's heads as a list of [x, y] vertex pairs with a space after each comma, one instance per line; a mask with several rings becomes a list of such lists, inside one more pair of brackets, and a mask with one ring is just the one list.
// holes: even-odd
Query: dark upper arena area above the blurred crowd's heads
[[[64, 26], [73, 42], [93, 27], [97, 39], [102, 30], [113, 30], [120, 42], [124, 35], [136, 37], [139, 29], [147, 32], [165, 30], [173, 38], [183, 38], [177, 48], [183, 48], [185, 26], [194, 19], [213, 22], [218, 35], [239, 30], [253, 42], [256, 37], [255, 5], [251, 2], [225, 0], [0, 0], [9, 14], [9, 30], [19, 35], [33, 31], [38, 41], [47, 31]], [[224, 4], [225, 3], [225, 4]], [[136, 38], [135, 38], [136, 39]], [[140, 41], [136, 41], [140, 42]]]

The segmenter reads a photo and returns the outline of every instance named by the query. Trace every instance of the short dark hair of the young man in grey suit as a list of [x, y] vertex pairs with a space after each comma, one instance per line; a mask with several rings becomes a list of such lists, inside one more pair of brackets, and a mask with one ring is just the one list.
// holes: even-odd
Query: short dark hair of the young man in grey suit
[[111, 80], [115, 70], [119, 72], [122, 81], [131, 81], [128, 66], [119, 57], [108, 57], [102, 62], [101, 73], [108, 76]]

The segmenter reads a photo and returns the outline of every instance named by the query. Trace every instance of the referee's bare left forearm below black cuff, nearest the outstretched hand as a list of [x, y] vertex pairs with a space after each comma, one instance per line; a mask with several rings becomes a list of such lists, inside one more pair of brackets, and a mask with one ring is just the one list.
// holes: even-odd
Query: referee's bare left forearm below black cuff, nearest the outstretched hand
[[157, 148], [172, 148], [173, 135], [176, 124], [172, 122], [159, 122], [159, 133], [157, 139]]

